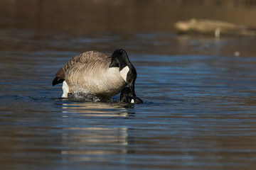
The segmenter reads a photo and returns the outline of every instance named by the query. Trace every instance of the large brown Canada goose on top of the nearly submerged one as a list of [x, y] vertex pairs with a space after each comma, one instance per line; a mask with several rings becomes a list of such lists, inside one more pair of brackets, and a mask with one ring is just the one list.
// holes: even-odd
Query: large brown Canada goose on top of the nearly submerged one
[[119, 94], [128, 84], [135, 96], [136, 78], [136, 69], [125, 50], [115, 50], [112, 55], [88, 51], [73, 57], [61, 67], [55, 74], [53, 86], [63, 83], [63, 98], [70, 93], [109, 98]]

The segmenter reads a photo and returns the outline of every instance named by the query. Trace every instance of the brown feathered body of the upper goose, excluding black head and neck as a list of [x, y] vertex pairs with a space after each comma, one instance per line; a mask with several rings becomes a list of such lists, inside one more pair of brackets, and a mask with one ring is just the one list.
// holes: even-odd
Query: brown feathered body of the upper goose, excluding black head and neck
[[53, 85], [63, 82], [63, 97], [81, 92], [98, 97], [119, 94], [127, 83], [119, 74], [119, 67], [110, 67], [111, 58], [102, 52], [83, 52], [58, 70]]

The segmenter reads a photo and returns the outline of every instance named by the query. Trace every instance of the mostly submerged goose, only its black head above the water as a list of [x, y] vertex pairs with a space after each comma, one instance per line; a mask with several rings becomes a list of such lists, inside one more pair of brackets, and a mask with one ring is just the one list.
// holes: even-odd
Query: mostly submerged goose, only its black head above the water
[[120, 103], [143, 103], [142, 99], [138, 98], [136, 95], [132, 94], [131, 89], [124, 87], [120, 94]]

